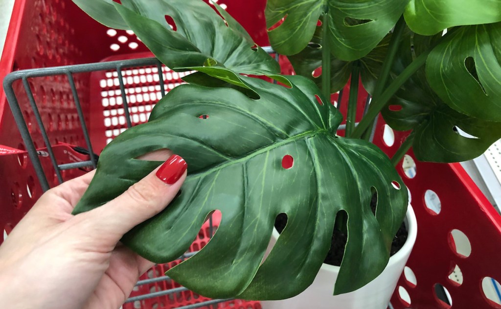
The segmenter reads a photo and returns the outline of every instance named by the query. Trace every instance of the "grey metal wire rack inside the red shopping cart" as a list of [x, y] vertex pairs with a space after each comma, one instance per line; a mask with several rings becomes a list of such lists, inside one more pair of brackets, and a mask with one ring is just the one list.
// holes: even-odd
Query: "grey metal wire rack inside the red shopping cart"
[[[265, 51], [268, 53], [275, 53], [275, 51], [271, 47], [263, 47]], [[33, 163], [35, 172], [37, 174], [37, 177], [40, 181], [40, 185], [42, 187], [42, 190], [45, 192], [48, 189], [50, 189], [49, 181], [47, 179], [47, 176], [44, 172], [44, 169], [42, 167], [42, 163], [40, 161], [40, 158], [37, 153], [37, 149], [35, 147], [35, 143], [33, 141], [32, 135], [28, 129], [28, 125], [26, 123], [26, 120], [23, 116], [23, 112], [21, 110], [21, 106], [18, 102], [18, 98], [16, 96], [16, 93], [14, 91], [14, 83], [18, 80], [21, 80], [23, 82], [24, 89], [28, 95], [28, 99], [30, 102], [30, 106], [33, 109], [33, 112], [35, 114], [35, 119], [37, 121], [38, 126], [40, 127], [40, 132], [42, 134], [44, 143], [47, 146], [47, 152], [49, 153], [52, 165], [54, 166], [54, 170], [56, 172], [57, 178], [59, 183], [63, 182], [63, 177], [62, 177], [62, 170], [67, 170], [67, 169], [73, 169], [73, 168], [81, 168], [81, 167], [93, 167], [96, 168], [96, 155], [94, 154], [93, 146], [91, 143], [91, 138], [89, 134], [89, 130], [87, 128], [87, 124], [85, 123], [85, 118], [84, 118], [84, 112], [82, 109], [81, 101], [79, 98], [79, 94], [75, 85], [75, 80], [73, 77], [73, 74], [75, 73], [90, 73], [93, 71], [105, 71], [105, 70], [116, 70], [118, 74], [118, 80], [119, 80], [119, 86], [121, 90], [121, 97], [122, 97], [122, 104], [124, 107], [124, 114], [125, 114], [125, 119], [126, 119], [126, 124], [127, 128], [132, 127], [132, 120], [131, 120], [131, 115], [129, 111], [129, 103], [126, 95], [126, 89], [125, 89], [125, 83], [124, 83], [124, 77], [122, 74], [122, 70], [126, 68], [132, 68], [132, 67], [144, 67], [144, 66], [153, 66], [158, 69], [158, 75], [159, 75], [159, 84], [160, 84], [160, 92], [161, 96], [165, 96], [165, 82], [163, 78], [163, 72], [162, 72], [162, 63], [157, 59], [157, 58], [139, 58], [139, 59], [129, 59], [129, 60], [119, 60], [119, 61], [108, 61], [108, 62], [97, 62], [97, 63], [88, 63], [88, 64], [75, 64], [75, 65], [65, 65], [65, 66], [57, 66], [57, 67], [45, 67], [45, 68], [36, 68], [36, 69], [26, 69], [26, 70], [18, 70], [15, 72], [12, 72], [8, 74], [3, 82], [4, 85], [4, 90], [7, 96], [7, 100], [9, 102], [9, 106], [12, 110], [12, 113], [14, 115], [14, 119], [18, 125], [19, 131], [21, 133], [21, 136], [23, 138], [23, 141], [26, 145], [26, 149], [28, 151], [28, 155]], [[53, 146], [50, 143], [49, 135], [47, 133], [47, 129], [43, 123], [42, 116], [40, 114], [39, 108], [37, 106], [35, 96], [33, 94], [33, 89], [30, 86], [29, 83], [29, 78], [35, 78], [35, 77], [45, 77], [45, 76], [54, 76], [54, 75], [65, 75], [67, 76], [69, 80], [69, 84], [71, 87], [72, 95], [74, 98], [75, 102], [75, 107], [77, 110], [78, 114], [78, 119], [80, 121], [80, 125], [82, 127], [83, 131], [83, 136], [85, 139], [85, 143], [87, 146], [87, 150], [89, 152], [90, 160], [87, 161], [82, 161], [82, 162], [75, 162], [75, 163], [67, 163], [67, 164], [59, 164], [57, 162]], [[212, 223], [212, 216], [209, 217], [209, 237], [212, 237], [213, 234], [213, 223]], [[194, 252], [187, 252], [180, 256], [180, 259], [185, 259], [190, 256], [193, 256], [196, 254], [198, 251]], [[168, 276], [160, 276], [160, 277], [155, 277], [155, 278], [150, 278], [150, 279], [145, 279], [145, 280], [140, 280], [136, 283], [136, 286], [141, 286], [144, 284], [149, 284], [149, 283], [154, 283], [154, 282], [160, 282], [160, 281], [165, 281], [165, 280], [170, 280]], [[156, 291], [156, 292], [151, 292], [148, 294], [143, 294], [143, 295], [138, 295], [138, 296], [133, 296], [128, 298], [125, 302], [135, 302], [135, 301], [140, 301], [152, 297], [158, 297], [158, 296], [164, 296], [164, 295], [169, 295], [181, 291], [186, 291], [188, 290], [185, 287], [178, 287], [178, 288], [172, 288], [168, 290], [162, 290], [162, 291]], [[192, 309], [192, 308], [198, 308], [201, 306], [208, 306], [212, 304], [217, 304], [219, 302], [225, 302], [228, 300], [232, 300], [233, 298], [229, 299], [212, 299], [208, 301], [203, 301], [200, 303], [196, 304], [191, 304], [191, 305], [186, 305], [179, 307], [179, 309]]]

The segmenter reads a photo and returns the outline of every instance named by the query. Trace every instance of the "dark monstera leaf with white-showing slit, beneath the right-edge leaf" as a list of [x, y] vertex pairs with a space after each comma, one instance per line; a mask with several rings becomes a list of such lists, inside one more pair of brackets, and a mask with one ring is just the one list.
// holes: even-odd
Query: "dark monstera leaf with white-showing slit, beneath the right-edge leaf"
[[[400, 73], [412, 61], [412, 48], [419, 55], [440, 37], [404, 35], [394, 72]], [[424, 68], [405, 83], [382, 114], [392, 128], [413, 130], [412, 147], [421, 161], [472, 159], [501, 138], [501, 123], [462, 114], [445, 104], [430, 87]]]

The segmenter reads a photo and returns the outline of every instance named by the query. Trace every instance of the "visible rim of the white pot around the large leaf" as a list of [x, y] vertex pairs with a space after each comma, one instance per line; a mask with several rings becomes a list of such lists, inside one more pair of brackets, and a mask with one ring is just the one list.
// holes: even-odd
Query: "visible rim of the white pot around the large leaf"
[[[407, 222], [407, 239], [405, 240], [405, 243], [400, 248], [400, 250], [398, 250], [397, 253], [395, 253], [393, 256], [390, 256], [390, 259], [388, 260], [388, 264], [386, 265], [386, 267], [392, 267], [402, 258], [406, 258], [408, 256], [408, 252], [412, 250], [412, 247], [416, 242], [417, 219], [414, 209], [412, 208], [410, 203], [407, 205], [407, 212], [405, 213], [404, 222], [405, 221]], [[273, 235], [275, 236], [275, 238], [278, 238], [280, 236], [276, 228], [273, 228]], [[339, 272], [340, 268], [341, 268], [340, 266], [334, 266], [326, 263], [322, 263], [322, 267], [320, 267], [320, 269], [333, 272]]]

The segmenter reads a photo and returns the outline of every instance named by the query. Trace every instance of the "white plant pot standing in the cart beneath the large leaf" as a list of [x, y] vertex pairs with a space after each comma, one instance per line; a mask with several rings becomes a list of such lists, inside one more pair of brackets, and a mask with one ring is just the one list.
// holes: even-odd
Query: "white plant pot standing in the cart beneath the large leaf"
[[[263, 301], [263, 309], [386, 309], [416, 242], [417, 221], [410, 205], [405, 224], [408, 236], [404, 246], [390, 257], [383, 272], [367, 285], [350, 293], [333, 296], [339, 267], [322, 264], [312, 285], [304, 292], [289, 299]], [[277, 230], [274, 230], [273, 236], [274, 239], [278, 238]]]

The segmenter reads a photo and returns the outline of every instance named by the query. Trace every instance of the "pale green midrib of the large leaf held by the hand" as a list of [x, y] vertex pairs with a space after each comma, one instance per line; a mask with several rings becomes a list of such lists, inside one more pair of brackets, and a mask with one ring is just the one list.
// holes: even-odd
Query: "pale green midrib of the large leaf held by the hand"
[[252, 157], [255, 157], [261, 153], [265, 153], [269, 150], [272, 150], [274, 148], [278, 148], [282, 145], [285, 145], [287, 143], [290, 143], [290, 142], [293, 142], [293, 141], [296, 141], [298, 139], [302, 139], [302, 138], [309, 138], [309, 137], [313, 137], [317, 134], [330, 134], [329, 130], [327, 129], [317, 129], [317, 130], [310, 130], [310, 131], [306, 131], [306, 132], [303, 132], [301, 134], [297, 134], [297, 135], [294, 135], [294, 136], [291, 136], [291, 137], [288, 137], [288, 138], [285, 138], [279, 142], [275, 142], [273, 144], [270, 144], [268, 146], [265, 146], [265, 147], [262, 147], [262, 148], [259, 148], [259, 149], [256, 149], [255, 151], [253, 152], [250, 152], [248, 153], [247, 155], [244, 155], [244, 156], [241, 156], [241, 157], [237, 157], [237, 158], [234, 158], [234, 159], [230, 159], [230, 160], [227, 160], [227, 161], [224, 161], [222, 163], [218, 163], [218, 164], [214, 164], [210, 167], [208, 167], [207, 169], [203, 170], [203, 171], [200, 171], [200, 172], [196, 172], [196, 173], [192, 173], [190, 174], [187, 179], [186, 179], [186, 183], [190, 182], [190, 181], [194, 181], [195, 179], [198, 179], [200, 177], [204, 177], [208, 174], [211, 174], [213, 172], [216, 172], [220, 169], [223, 169], [227, 166], [231, 166], [233, 164], [238, 164], [240, 162], [243, 162], [243, 161], [246, 161], [246, 160], [249, 160], [250, 158]]

